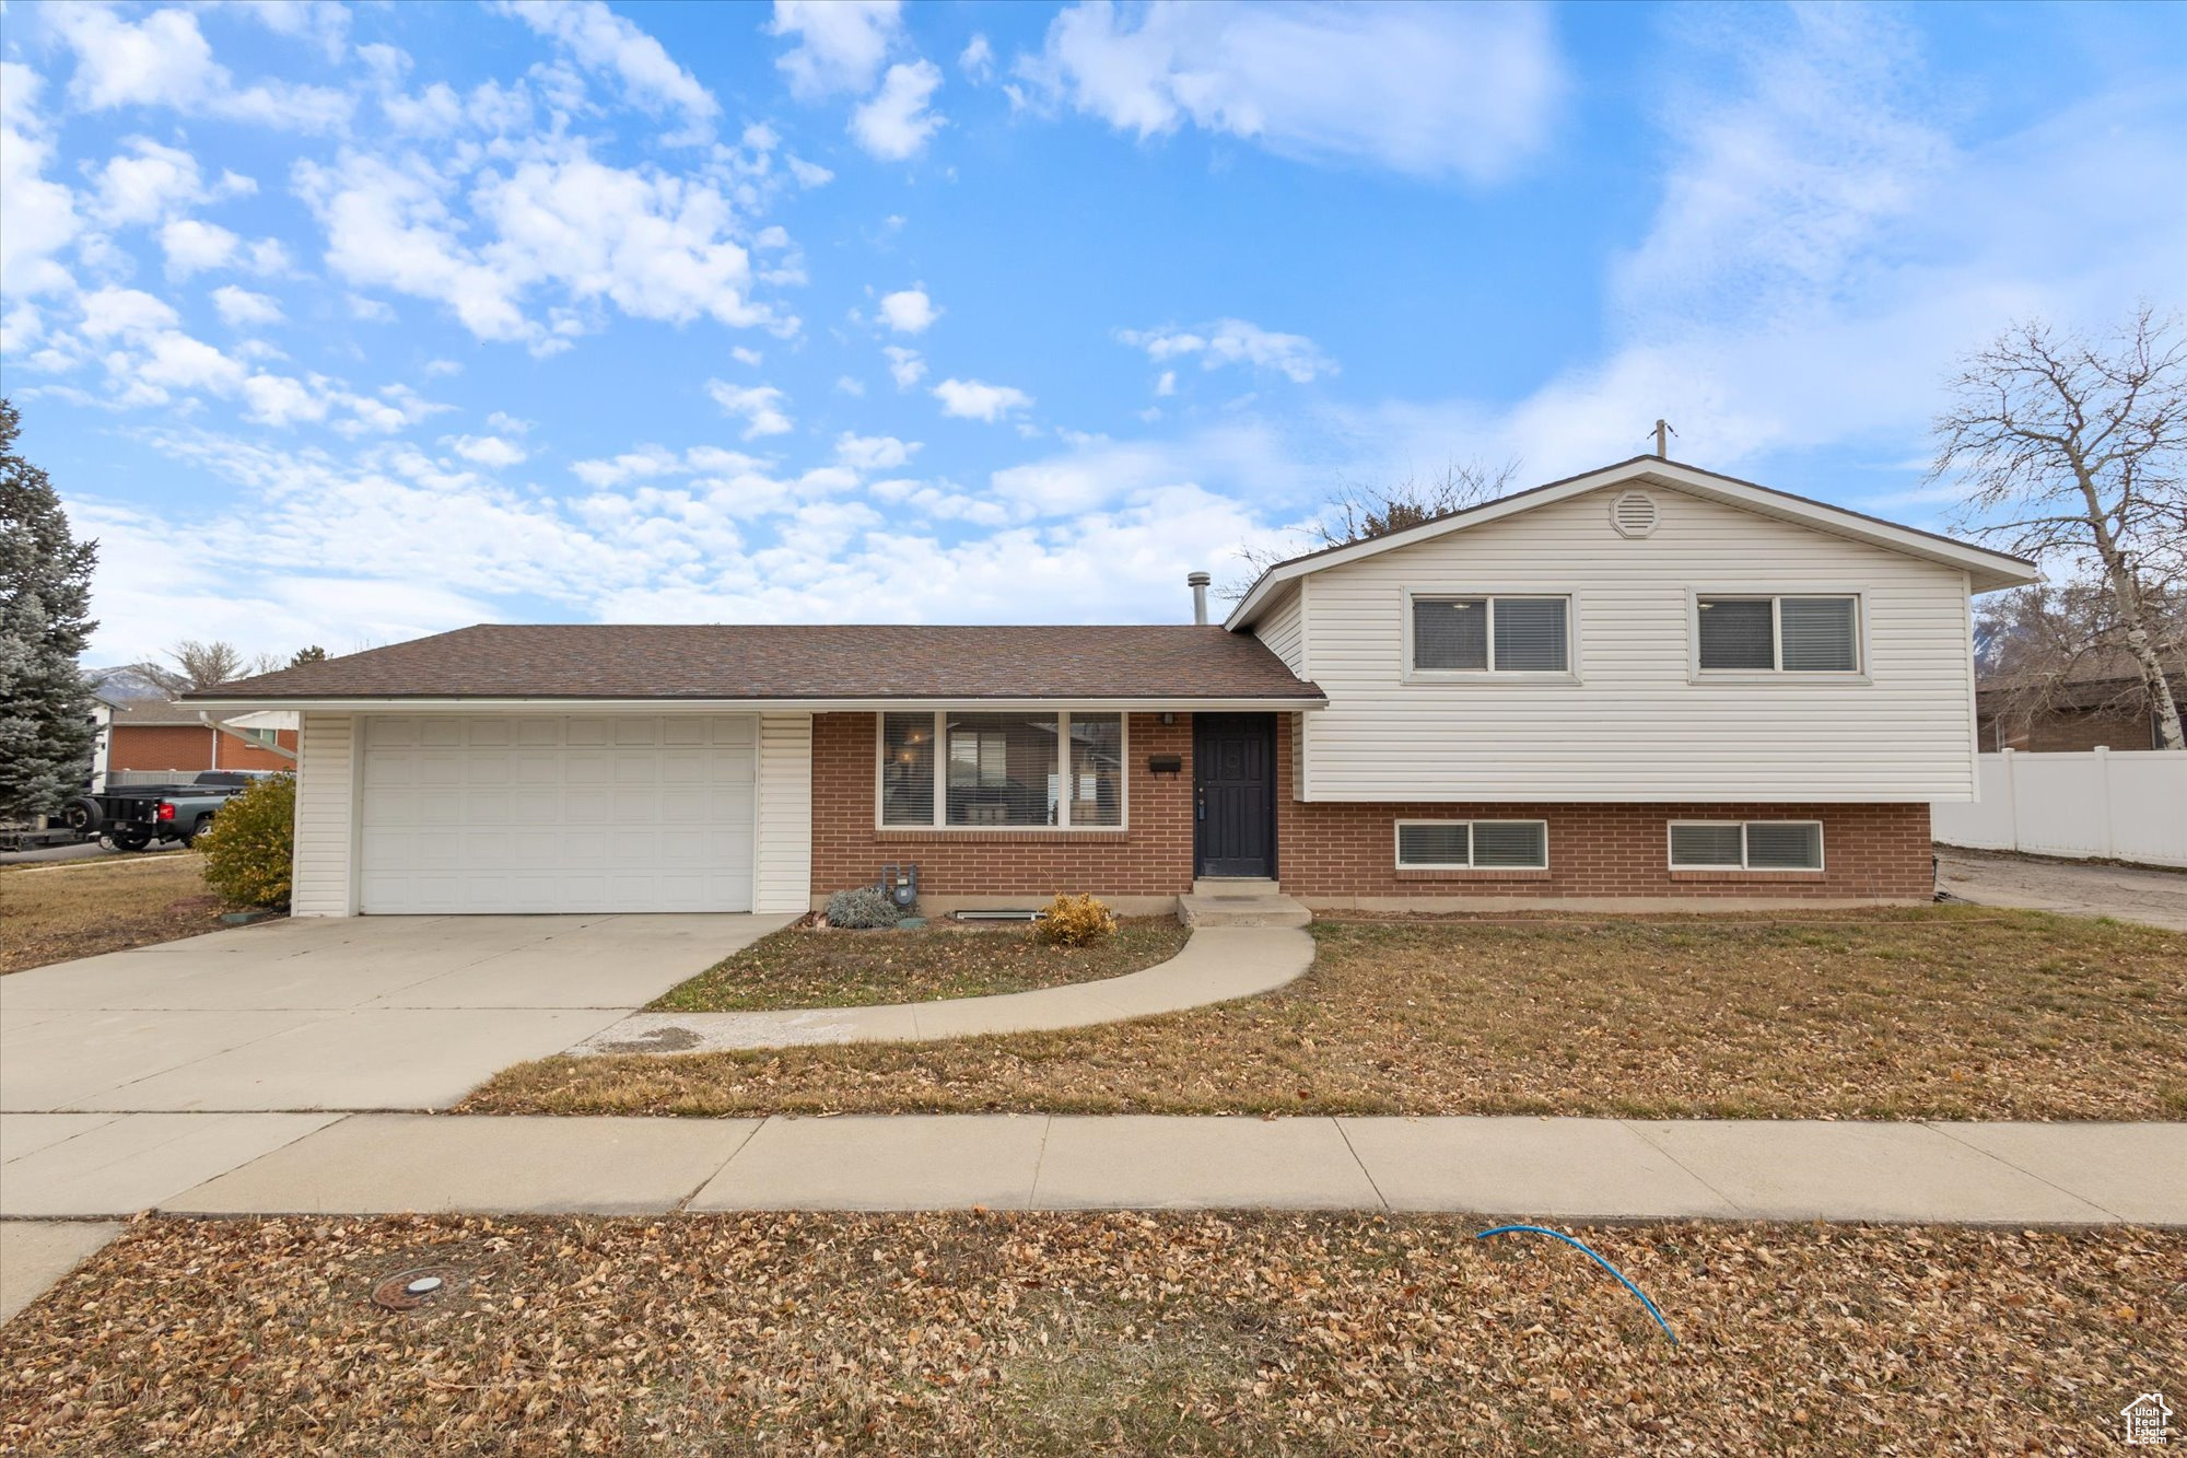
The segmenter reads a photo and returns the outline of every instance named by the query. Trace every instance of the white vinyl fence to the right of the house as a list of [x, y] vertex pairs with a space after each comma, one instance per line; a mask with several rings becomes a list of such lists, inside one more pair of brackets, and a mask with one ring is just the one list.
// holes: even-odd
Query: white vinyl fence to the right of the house
[[2187, 867], [2187, 753], [1981, 755], [1981, 801], [1929, 806], [1944, 845]]

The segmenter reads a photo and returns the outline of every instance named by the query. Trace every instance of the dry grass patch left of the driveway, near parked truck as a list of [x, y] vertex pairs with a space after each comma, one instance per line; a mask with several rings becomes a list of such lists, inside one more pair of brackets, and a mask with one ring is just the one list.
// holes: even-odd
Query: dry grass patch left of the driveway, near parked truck
[[177, 849], [0, 871], [0, 972], [219, 930], [203, 869]]

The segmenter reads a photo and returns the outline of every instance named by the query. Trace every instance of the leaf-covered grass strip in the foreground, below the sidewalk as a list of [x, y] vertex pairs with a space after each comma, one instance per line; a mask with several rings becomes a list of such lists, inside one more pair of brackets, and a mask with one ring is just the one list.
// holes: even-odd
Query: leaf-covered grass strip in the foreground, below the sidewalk
[[[1365, 1215], [149, 1219], [11, 1454], [2108, 1454], [2187, 1235]], [[374, 1307], [444, 1268], [446, 1296]]]

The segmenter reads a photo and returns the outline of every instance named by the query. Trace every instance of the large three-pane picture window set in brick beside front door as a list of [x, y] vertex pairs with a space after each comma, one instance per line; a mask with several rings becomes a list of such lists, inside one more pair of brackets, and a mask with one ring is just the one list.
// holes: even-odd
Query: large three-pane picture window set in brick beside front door
[[1122, 714], [881, 716], [879, 821], [932, 830], [1120, 830]]

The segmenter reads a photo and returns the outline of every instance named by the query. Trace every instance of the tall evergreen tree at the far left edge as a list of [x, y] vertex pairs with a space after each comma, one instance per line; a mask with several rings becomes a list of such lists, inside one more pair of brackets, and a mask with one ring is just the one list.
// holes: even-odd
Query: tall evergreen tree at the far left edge
[[59, 810], [92, 762], [92, 690], [77, 657], [98, 626], [98, 543], [68, 534], [46, 473], [15, 453], [20, 431], [0, 398], [0, 819]]

